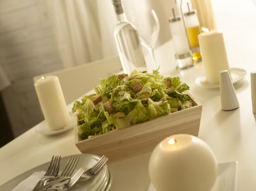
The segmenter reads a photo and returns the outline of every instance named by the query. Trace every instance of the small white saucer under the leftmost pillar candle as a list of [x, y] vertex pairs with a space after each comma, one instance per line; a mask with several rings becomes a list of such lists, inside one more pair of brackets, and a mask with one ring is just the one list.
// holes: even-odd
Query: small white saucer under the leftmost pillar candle
[[39, 124], [35, 126], [35, 132], [43, 135], [52, 135], [52, 134], [58, 134], [67, 130], [70, 130], [74, 127], [73, 121], [74, 121], [74, 114], [72, 112], [69, 112], [71, 123], [67, 126], [65, 126], [63, 129], [60, 130], [50, 130], [47, 127], [46, 120], [43, 120]]

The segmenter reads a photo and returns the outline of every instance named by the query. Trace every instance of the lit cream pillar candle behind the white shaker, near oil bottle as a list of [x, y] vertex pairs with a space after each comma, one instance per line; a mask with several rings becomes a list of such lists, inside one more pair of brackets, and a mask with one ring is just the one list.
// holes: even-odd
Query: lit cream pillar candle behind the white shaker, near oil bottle
[[222, 70], [227, 70], [231, 76], [222, 31], [201, 33], [198, 40], [208, 83], [219, 83], [219, 72]]

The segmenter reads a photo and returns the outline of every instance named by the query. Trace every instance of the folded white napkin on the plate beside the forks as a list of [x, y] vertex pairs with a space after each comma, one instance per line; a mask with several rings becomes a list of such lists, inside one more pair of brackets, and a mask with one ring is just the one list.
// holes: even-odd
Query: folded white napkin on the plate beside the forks
[[43, 177], [45, 171], [34, 172], [30, 177], [19, 183], [12, 191], [30, 191], [33, 190], [37, 182]]

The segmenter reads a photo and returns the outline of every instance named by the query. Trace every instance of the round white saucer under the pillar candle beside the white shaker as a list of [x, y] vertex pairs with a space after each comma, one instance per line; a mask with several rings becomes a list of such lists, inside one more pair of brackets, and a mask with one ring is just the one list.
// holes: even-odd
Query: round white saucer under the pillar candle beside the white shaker
[[[244, 70], [242, 68], [230, 68], [230, 72], [231, 72], [231, 78], [232, 78], [231, 80], [232, 80], [233, 84], [239, 82], [246, 76], [246, 70]], [[206, 81], [205, 75], [196, 78], [195, 83], [199, 87], [205, 87], [205, 88], [220, 87], [219, 83], [217, 83], [217, 84], [208, 83]]]

